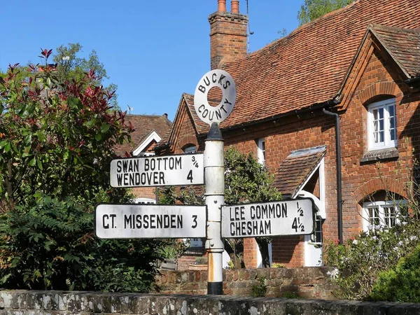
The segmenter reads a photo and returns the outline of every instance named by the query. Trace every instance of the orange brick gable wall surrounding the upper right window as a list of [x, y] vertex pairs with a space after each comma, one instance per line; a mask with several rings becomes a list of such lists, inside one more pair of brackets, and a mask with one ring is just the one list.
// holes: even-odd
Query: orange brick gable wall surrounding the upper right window
[[[341, 116], [342, 134], [342, 197], [344, 239], [351, 237], [362, 228], [360, 204], [367, 195], [377, 190], [391, 190], [406, 197], [405, 183], [409, 181], [412, 167], [413, 141], [419, 124], [412, 124], [419, 117], [419, 93], [409, 97], [395, 66], [386, 57], [374, 52], [368, 60], [363, 75], [347, 111]], [[360, 162], [368, 151], [367, 144], [367, 105], [381, 99], [395, 97], [398, 158], [389, 160]], [[407, 130], [407, 124], [410, 128]]]

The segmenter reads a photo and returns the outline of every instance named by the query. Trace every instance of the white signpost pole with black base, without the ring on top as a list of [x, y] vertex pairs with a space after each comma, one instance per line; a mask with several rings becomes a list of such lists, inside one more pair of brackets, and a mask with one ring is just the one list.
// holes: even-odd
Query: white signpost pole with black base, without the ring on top
[[204, 150], [204, 179], [206, 182], [208, 276], [207, 294], [223, 294], [223, 241], [221, 239], [221, 207], [225, 204], [225, 167], [223, 139], [217, 123], [207, 134]]

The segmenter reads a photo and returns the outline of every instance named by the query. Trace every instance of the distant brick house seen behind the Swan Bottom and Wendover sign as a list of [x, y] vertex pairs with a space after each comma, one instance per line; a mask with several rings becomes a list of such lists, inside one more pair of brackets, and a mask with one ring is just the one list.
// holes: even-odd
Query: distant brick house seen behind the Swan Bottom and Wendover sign
[[[158, 115], [127, 115], [125, 120], [132, 124], [134, 132], [131, 141], [116, 146], [116, 155], [120, 157], [155, 155], [154, 148], [164, 137], [167, 137], [172, 127], [172, 122], [167, 114]], [[154, 187], [131, 188], [137, 203], [155, 204]]]

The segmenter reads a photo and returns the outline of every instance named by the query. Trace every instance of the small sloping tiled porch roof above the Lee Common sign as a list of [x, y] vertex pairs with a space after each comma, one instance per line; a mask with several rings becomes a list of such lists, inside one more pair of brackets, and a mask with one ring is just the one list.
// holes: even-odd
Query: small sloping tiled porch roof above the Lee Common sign
[[274, 177], [274, 186], [282, 195], [293, 196], [316, 171], [325, 155], [325, 146], [292, 151]]

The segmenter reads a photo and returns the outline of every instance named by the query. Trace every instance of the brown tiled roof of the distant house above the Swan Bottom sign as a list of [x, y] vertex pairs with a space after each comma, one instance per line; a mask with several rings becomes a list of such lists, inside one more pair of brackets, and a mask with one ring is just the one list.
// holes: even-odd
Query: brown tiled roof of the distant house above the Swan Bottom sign
[[[171, 130], [172, 123], [167, 118], [167, 115], [157, 116], [157, 115], [127, 115], [125, 116], [126, 122], [132, 123], [134, 127], [134, 132], [131, 134], [131, 142], [120, 144], [114, 148], [117, 155], [123, 156], [125, 153], [132, 153], [136, 151], [137, 148], [146, 147], [149, 143], [144, 143], [148, 141], [150, 136], [158, 134], [160, 138], [165, 137], [165, 134]], [[154, 139], [154, 138], [153, 138]], [[155, 141], [156, 139], [150, 139]], [[149, 141], [150, 142], [150, 141]]]

